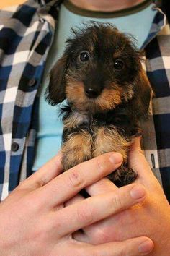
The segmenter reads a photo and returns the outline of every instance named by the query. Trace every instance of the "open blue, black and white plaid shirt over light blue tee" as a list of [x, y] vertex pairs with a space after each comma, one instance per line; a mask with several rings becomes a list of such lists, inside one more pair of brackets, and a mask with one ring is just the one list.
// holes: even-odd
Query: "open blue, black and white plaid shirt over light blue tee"
[[[38, 97], [61, 1], [29, 0], [0, 11], [0, 198], [32, 174]], [[143, 148], [170, 200], [170, 29], [159, 9], [143, 45], [156, 98]]]

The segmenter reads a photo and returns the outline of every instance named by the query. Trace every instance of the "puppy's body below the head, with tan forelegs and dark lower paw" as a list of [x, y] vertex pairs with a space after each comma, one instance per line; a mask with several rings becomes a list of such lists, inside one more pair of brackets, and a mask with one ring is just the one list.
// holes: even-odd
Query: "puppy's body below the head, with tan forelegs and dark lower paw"
[[135, 173], [125, 164], [137, 127], [123, 107], [92, 115], [73, 111], [68, 104], [63, 108], [63, 123], [64, 171], [103, 153], [115, 151], [122, 154], [124, 164], [120, 170], [110, 174], [109, 179], [119, 187], [133, 182]]

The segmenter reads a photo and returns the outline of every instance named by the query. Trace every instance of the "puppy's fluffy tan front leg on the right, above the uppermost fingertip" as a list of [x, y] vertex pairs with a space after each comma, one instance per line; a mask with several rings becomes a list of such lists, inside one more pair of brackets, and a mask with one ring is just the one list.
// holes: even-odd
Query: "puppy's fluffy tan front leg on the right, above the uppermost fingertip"
[[122, 154], [124, 161], [127, 160], [128, 150], [133, 141], [129, 142], [122, 137], [114, 126], [100, 127], [94, 136], [93, 157], [115, 151]]

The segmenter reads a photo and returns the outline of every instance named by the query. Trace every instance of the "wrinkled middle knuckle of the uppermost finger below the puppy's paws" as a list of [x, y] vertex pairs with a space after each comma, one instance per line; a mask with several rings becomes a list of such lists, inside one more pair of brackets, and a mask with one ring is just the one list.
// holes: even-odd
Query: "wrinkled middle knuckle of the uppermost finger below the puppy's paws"
[[81, 177], [81, 172], [71, 170], [68, 174], [68, 183], [70, 187], [82, 187], [84, 185], [84, 181]]

